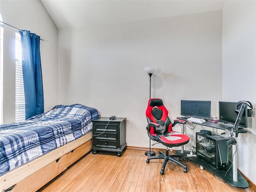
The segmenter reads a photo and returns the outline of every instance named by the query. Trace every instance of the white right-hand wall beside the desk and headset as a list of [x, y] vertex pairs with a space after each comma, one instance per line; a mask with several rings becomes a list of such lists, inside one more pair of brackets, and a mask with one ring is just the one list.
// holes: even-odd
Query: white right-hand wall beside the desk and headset
[[[256, 103], [256, 1], [226, 1], [223, 8], [223, 89], [225, 101]], [[238, 168], [256, 183], [256, 118], [238, 134]]]

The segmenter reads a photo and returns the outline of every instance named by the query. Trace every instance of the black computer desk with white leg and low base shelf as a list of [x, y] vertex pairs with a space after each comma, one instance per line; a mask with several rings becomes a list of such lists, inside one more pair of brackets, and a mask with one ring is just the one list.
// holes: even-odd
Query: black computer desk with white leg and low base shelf
[[[184, 118], [184, 117], [177, 117], [177, 119], [187, 121], [187, 118]], [[214, 133], [214, 128], [221, 129], [221, 130], [228, 130], [228, 131], [231, 131], [231, 129], [232, 129], [232, 128], [227, 127], [225, 123], [211, 122], [210, 120], [208, 120], [202, 124], [201, 123], [194, 123], [194, 124], [211, 127], [213, 129], [213, 133]], [[182, 127], [182, 130], [183, 130], [183, 127]], [[247, 130], [245, 130], [244, 128], [239, 128], [238, 133], [247, 133]], [[236, 145], [232, 145], [232, 152], [233, 152], [232, 156], [234, 156], [234, 154], [236, 154], [236, 153], [234, 153], [235, 150], [234, 150], [233, 146], [235, 146], [235, 148], [236, 148]], [[242, 174], [237, 170], [236, 155], [234, 156], [234, 160], [232, 163], [233, 167], [230, 167], [230, 168], [227, 167], [227, 168], [219, 170], [219, 169], [216, 169], [213, 166], [211, 166], [208, 162], [201, 160], [197, 157], [188, 157], [187, 154], [190, 154], [190, 152], [184, 151], [183, 147], [182, 147], [182, 150], [177, 150], [176, 154], [182, 155], [183, 157], [186, 157], [189, 160], [192, 160], [193, 162], [199, 164], [200, 166], [203, 166], [204, 168], [213, 172], [218, 177], [222, 178], [224, 181], [231, 184], [232, 186], [239, 187], [239, 188], [248, 188], [249, 187], [248, 182], [245, 180], [245, 178], [242, 176]], [[230, 165], [231, 165], [231, 163], [230, 163]]]

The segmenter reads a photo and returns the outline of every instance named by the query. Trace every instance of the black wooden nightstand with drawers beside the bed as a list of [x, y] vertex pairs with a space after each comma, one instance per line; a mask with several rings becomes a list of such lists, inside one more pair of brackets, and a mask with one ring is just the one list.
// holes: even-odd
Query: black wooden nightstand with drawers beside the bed
[[122, 156], [126, 149], [126, 118], [109, 120], [108, 117], [100, 117], [92, 120], [92, 153], [98, 151], [116, 152]]

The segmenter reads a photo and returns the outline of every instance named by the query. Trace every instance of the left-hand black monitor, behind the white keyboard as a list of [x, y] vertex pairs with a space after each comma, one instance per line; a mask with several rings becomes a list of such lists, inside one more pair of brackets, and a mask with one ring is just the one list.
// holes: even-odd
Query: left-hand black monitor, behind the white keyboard
[[211, 101], [181, 100], [180, 114], [186, 117], [211, 118]]

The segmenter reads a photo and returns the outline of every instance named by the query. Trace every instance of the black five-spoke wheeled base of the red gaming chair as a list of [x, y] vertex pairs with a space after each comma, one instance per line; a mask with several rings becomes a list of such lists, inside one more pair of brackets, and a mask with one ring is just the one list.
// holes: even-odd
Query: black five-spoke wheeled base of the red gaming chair
[[177, 154], [174, 154], [174, 155], [168, 155], [168, 148], [166, 148], [166, 154], [164, 154], [164, 152], [159, 152], [159, 155], [158, 156], [152, 156], [152, 157], [148, 157], [148, 159], [146, 160], [146, 163], [149, 163], [149, 161], [151, 159], [164, 159], [164, 162], [163, 162], [163, 165], [162, 165], [162, 169], [160, 170], [160, 174], [163, 175], [164, 174], [164, 169], [165, 169], [165, 166], [166, 166], [166, 163], [168, 161], [172, 161], [172, 162], [175, 162], [177, 164], [179, 164], [180, 166], [182, 166], [184, 169], [183, 169], [183, 172], [186, 173], [188, 170], [187, 170], [187, 166], [184, 165], [182, 162], [180, 162], [179, 160], [176, 160], [175, 158], [179, 158], [179, 160], [181, 161], [182, 160], [182, 156], [181, 155], [177, 155]]

